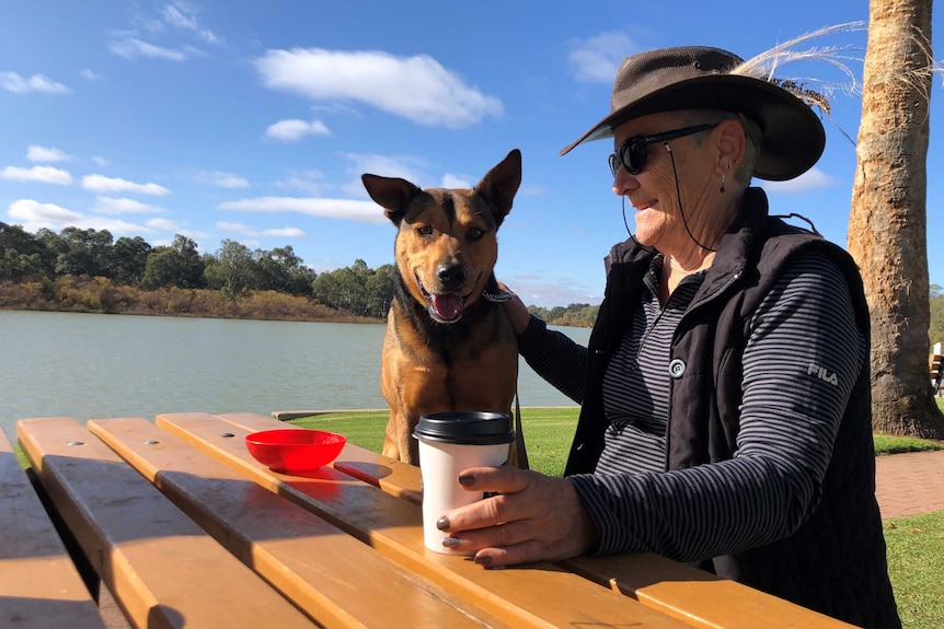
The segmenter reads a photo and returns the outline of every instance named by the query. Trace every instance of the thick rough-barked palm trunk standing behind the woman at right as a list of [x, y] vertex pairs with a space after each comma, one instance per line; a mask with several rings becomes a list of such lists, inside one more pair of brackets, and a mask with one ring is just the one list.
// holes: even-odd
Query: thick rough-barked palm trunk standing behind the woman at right
[[870, 0], [849, 252], [872, 315], [873, 426], [944, 439], [929, 387], [931, 0]]

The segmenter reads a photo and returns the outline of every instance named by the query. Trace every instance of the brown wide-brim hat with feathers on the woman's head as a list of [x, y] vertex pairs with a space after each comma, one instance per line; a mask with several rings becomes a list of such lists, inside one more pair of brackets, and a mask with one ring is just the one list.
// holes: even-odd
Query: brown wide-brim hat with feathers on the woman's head
[[661, 48], [626, 57], [613, 82], [610, 115], [561, 154], [582, 142], [610, 138], [618, 126], [647, 114], [721, 109], [744, 114], [759, 126], [756, 177], [782, 182], [802, 175], [826, 147], [819, 116], [773, 80], [733, 73], [741, 63], [737, 55], [706, 46]]

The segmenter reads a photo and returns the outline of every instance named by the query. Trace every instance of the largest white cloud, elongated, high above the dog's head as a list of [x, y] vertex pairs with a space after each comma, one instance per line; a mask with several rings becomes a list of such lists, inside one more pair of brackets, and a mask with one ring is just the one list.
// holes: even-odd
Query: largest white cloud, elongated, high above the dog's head
[[355, 101], [428, 127], [458, 129], [504, 110], [499, 98], [427, 55], [292, 48], [268, 50], [255, 65], [267, 88], [313, 101]]

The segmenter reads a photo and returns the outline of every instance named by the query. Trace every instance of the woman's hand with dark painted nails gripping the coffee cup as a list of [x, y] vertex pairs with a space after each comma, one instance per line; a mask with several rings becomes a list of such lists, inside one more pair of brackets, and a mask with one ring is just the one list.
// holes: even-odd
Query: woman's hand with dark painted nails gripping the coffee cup
[[596, 543], [596, 528], [577, 490], [563, 478], [514, 467], [463, 470], [468, 491], [496, 496], [453, 509], [437, 525], [444, 546], [477, 550], [475, 563], [488, 568], [566, 559]]

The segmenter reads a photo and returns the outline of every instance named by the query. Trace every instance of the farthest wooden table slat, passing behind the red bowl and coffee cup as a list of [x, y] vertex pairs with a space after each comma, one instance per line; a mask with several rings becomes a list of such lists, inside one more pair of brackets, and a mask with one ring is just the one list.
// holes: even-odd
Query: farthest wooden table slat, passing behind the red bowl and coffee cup
[[[217, 417], [251, 431], [291, 426], [253, 413]], [[334, 467], [422, 504], [418, 467], [356, 446], [346, 447]], [[695, 626], [744, 629], [848, 627], [782, 598], [657, 555], [644, 554], [637, 559], [629, 562], [621, 556], [577, 557], [561, 564]]]

